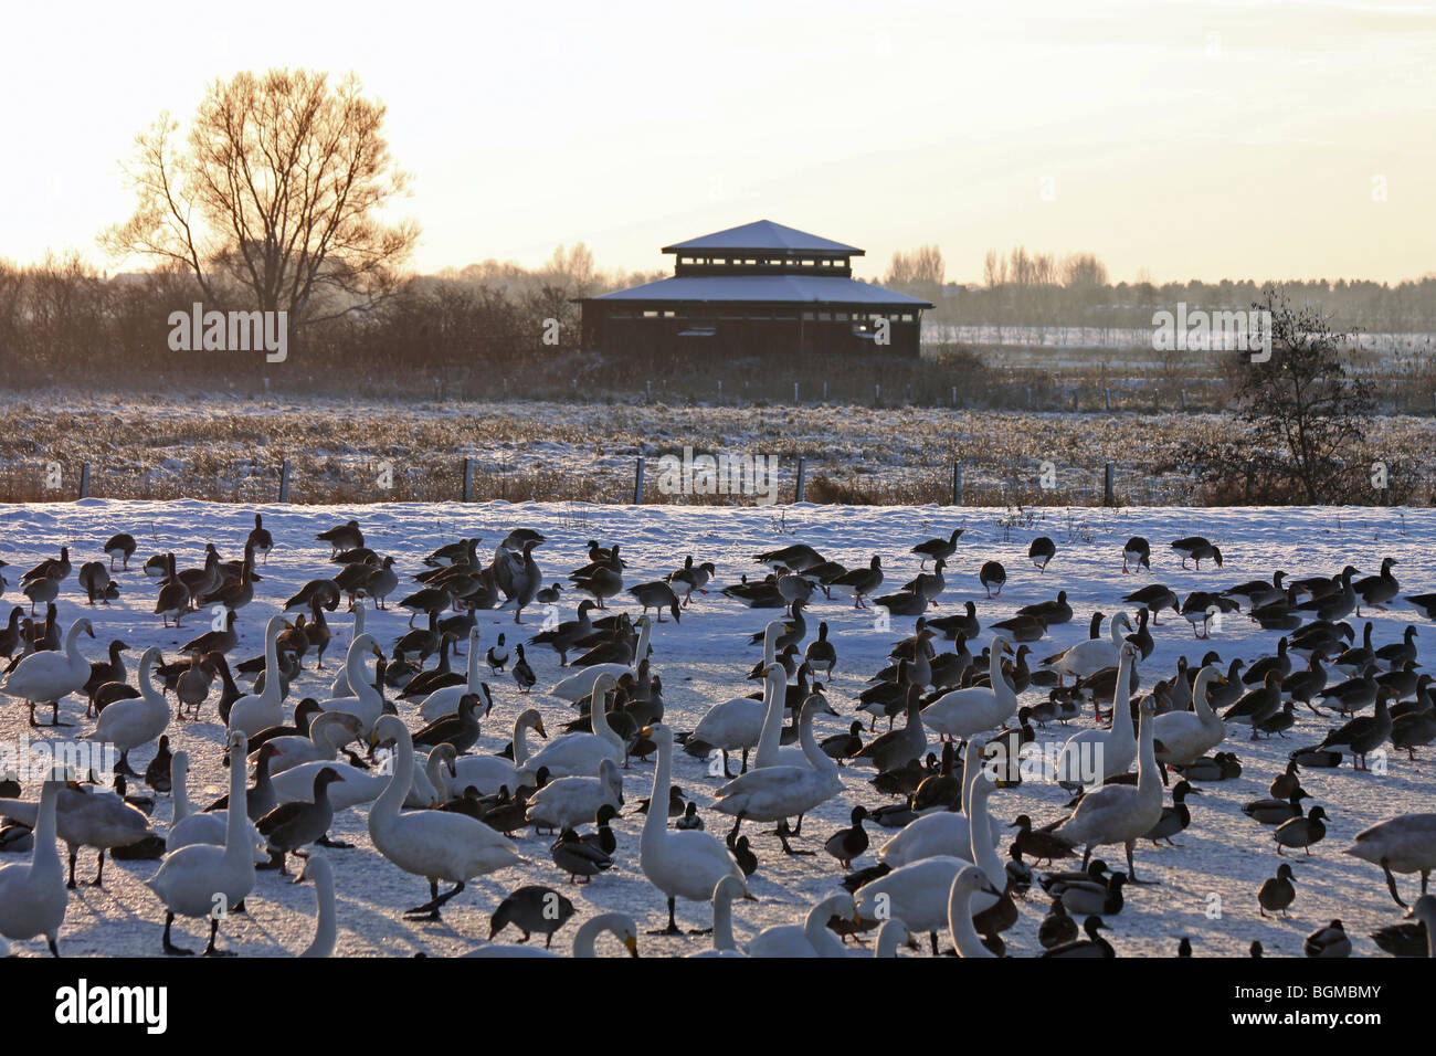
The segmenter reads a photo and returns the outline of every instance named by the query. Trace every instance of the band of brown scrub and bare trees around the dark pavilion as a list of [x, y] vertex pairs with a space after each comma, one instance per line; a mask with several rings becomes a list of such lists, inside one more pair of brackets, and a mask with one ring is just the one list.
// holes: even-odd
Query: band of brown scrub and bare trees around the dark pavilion
[[[1017, 250], [997, 260], [1001, 266], [989, 267], [989, 286], [939, 282], [936, 253], [913, 254], [906, 270], [883, 280], [926, 296], [938, 306], [929, 318], [955, 325], [1149, 328], [1155, 310], [1179, 302], [1213, 309], [1246, 307], [1261, 299], [1252, 282], [1111, 284], [1090, 256], [1057, 263]], [[560, 247], [536, 270], [488, 261], [419, 276], [362, 312], [335, 313], [327, 306], [329, 318], [290, 320], [289, 359], [267, 363], [263, 351], [171, 349], [171, 313], [204, 302], [188, 274], [105, 276], [79, 257], [30, 267], [0, 261], [0, 385], [78, 394], [211, 385], [263, 391], [271, 385], [276, 392], [366, 398], [648, 394], [668, 401], [777, 402], [791, 398], [793, 382], [804, 379], [800, 398], [806, 401], [821, 395], [834, 402], [1076, 408], [1078, 399], [1088, 405], [1100, 399], [1103, 407], [1202, 399], [1195, 382], [1179, 378], [1159, 379], [1160, 392], [1153, 381], [1123, 394], [1107, 392], [1106, 381], [1093, 389], [1084, 378], [1012, 374], [991, 356], [991, 368], [982, 368], [969, 348], [912, 363], [877, 356], [843, 363], [784, 358], [781, 363], [704, 363], [702, 369], [673, 358], [605, 359], [576, 348], [579, 306], [572, 299], [656, 277], [602, 273], [582, 246]], [[1338, 329], [1436, 332], [1436, 277], [1397, 286], [1340, 282], [1287, 283], [1284, 289], [1292, 303], [1318, 306]], [[250, 305], [237, 299], [205, 307], [243, 310]], [[1413, 407], [1429, 409], [1429, 386], [1417, 388]], [[1393, 404], [1404, 405], [1404, 397], [1396, 395]]]

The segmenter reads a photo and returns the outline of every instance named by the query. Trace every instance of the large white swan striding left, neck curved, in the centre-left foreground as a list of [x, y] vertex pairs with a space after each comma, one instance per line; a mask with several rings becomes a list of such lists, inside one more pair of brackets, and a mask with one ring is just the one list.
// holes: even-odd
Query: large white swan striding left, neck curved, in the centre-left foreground
[[[398, 715], [381, 715], [373, 733], [379, 740], [392, 738], [398, 754], [389, 786], [369, 809], [369, 836], [381, 855], [429, 882], [429, 901], [405, 915], [438, 920], [439, 908], [470, 879], [516, 865], [518, 849], [468, 815], [445, 810], [399, 813], [414, 784], [414, 740]], [[449, 881], [454, 889], [439, 895], [439, 881]]]

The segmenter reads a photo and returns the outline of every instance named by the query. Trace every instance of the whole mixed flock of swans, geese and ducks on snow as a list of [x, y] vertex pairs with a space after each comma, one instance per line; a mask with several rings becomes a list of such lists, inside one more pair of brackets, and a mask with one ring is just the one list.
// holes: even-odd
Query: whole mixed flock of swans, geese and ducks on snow
[[0, 540], [11, 953], [1430, 955], [1406, 539], [214, 509]]

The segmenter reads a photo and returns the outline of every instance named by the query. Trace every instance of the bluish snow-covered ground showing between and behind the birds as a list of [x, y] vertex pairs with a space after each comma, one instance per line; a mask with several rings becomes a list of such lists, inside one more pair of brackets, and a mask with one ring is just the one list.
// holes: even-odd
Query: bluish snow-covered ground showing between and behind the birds
[[[913, 543], [935, 534], [948, 534], [954, 527], [966, 529], [958, 552], [948, 569], [948, 589], [939, 598], [935, 615], [958, 611], [968, 599], [976, 601], [984, 632], [981, 644], [991, 634], [994, 621], [1011, 616], [1031, 602], [1048, 599], [1058, 589], [1068, 592], [1076, 609], [1073, 621], [1053, 629], [1034, 649], [1038, 657], [1080, 641], [1087, 635], [1087, 621], [1093, 609], [1113, 613], [1122, 611], [1122, 595], [1137, 586], [1157, 580], [1179, 596], [1192, 589], [1221, 589], [1248, 579], [1269, 578], [1277, 568], [1292, 576], [1331, 575], [1351, 563], [1364, 573], [1374, 573], [1384, 556], [1400, 563], [1396, 575], [1402, 593], [1436, 589], [1436, 513], [1432, 510], [1301, 510], [1301, 509], [1124, 509], [1117, 511], [1084, 511], [1081, 532], [1068, 534], [1068, 522], [1060, 516], [1012, 527], [999, 524], [1004, 511], [987, 509], [938, 507], [816, 507], [788, 506], [771, 509], [717, 507], [599, 507], [549, 504], [389, 504], [362, 507], [299, 507], [264, 506], [241, 507], [200, 501], [122, 503], [86, 500], [76, 504], [6, 506], [0, 507], [0, 559], [10, 563], [4, 569], [10, 586], [4, 593], [4, 609], [23, 603], [17, 590], [19, 573], [34, 562], [55, 556], [62, 545], [72, 546], [76, 568], [83, 560], [101, 556], [101, 545], [115, 532], [131, 532], [139, 540], [139, 552], [128, 573], [116, 573], [122, 595], [105, 608], [88, 611], [83, 593], [72, 575], [60, 595], [60, 621], [69, 626], [79, 615], [95, 621], [95, 641], [82, 639], [83, 651], [92, 659], [102, 655], [112, 638], [129, 644], [126, 662], [134, 680], [134, 667], [145, 647], [158, 645], [167, 658], [175, 647], [207, 629], [208, 621], [191, 616], [181, 631], [161, 629], [152, 615], [154, 580], [139, 570], [151, 553], [174, 550], [181, 568], [198, 566], [204, 545], [213, 542], [224, 557], [240, 557], [244, 537], [253, 524], [253, 514], [264, 514], [264, 524], [276, 539], [276, 550], [260, 572], [264, 582], [257, 586], [256, 601], [240, 613], [241, 642], [231, 652], [231, 661], [263, 651], [263, 626], [283, 599], [306, 580], [329, 576], [336, 568], [327, 563], [327, 545], [314, 542], [320, 530], [358, 517], [366, 543], [379, 553], [392, 553], [405, 576], [418, 572], [419, 559], [431, 549], [461, 536], [478, 534], [484, 543], [481, 553], [493, 547], [511, 529], [537, 529], [549, 542], [536, 552], [546, 582], [560, 580], [569, 570], [583, 565], [586, 540], [605, 545], [620, 543], [629, 563], [626, 585], [656, 579], [682, 563], [692, 553], [695, 562], [711, 560], [718, 568], [715, 586], [737, 582], [740, 573], [761, 573], [751, 555], [787, 546], [808, 543], [826, 557], [847, 566], [866, 565], [873, 553], [883, 556], [886, 589], [896, 589], [918, 572], [918, 559], [908, 550]], [[1055, 539], [1058, 553], [1047, 575], [1038, 575], [1027, 560], [1027, 546], [1037, 534]], [[1132, 534], [1143, 534], [1152, 542], [1153, 573], [1123, 575], [1122, 545]], [[1179, 557], [1166, 543], [1179, 536], [1203, 534], [1215, 542], [1225, 556], [1225, 568], [1200, 572], [1183, 570]], [[491, 550], [490, 550], [491, 552]], [[976, 570], [987, 559], [998, 559], [1008, 569], [1008, 585], [1001, 596], [985, 599], [978, 585]], [[406, 582], [406, 579], [404, 580]], [[392, 599], [404, 593], [404, 586]], [[563, 618], [572, 616], [576, 595], [566, 595]], [[633, 615], [638, 606], [629, 605]], [[1134, 615], [1134, 606], [1127, 606]], [[748, 668], [760, 658], [760, 648], [747, 645], [747, 636], [761, 631], [774, 616], [773, 611], [748, 609], [712, 592], [694, 598], [692, 608], [681, 624], [665, 622], [653, 636], [653, 664], [663, 680], [666, 701], [665, 721], [675, 730], [689, 730], [712, 703], [747, 693], [754, 685], [745, 681]], [[524, 624], [537, 631], [540, 611], [531, 609]], [[816, 593], [810, 609], [810, 628], [827, 621], [837, 647], [837, 671], [830, 684], [830, 703], [841, 718], [823, 715], [819, 736], [839, 733], [850, 721], [856, 694], [866, 680], [886, 664], [893, 642], [912, 629], [910, 618], [895, 618], [889, 631], [875, 628], [870, 612], [854, 611], [843, 601], [824, 601]], [[1397, 641], [1412, 622], [1419, 628], [1417, 644], [1425, 655], [1436, 655], [1436, 632], [1404, 602], [1396, 602], [1390, 612], [1371, 616], [1376, 624], [1376, 644]], [[1356, 621], [1353, 621], [1356, 622]], [[326, 671], [310, 668], [293, 687], [289, 704], [300, 697], [329, 695], [335, 665], [342, 661], [349, 638], [350, 616], [343, 606], [333, 613], [330, 625], [335, 639], [326, 657]], [[401, 611], [370, 612], [368, 629], [388, 651], [402, 634], [406, 615]], [[482, 648], [494, 642], [498, 632], [508, 641], [520, 641], [513, 616], [503, 612], [481, 612]], [[1356, 624], [1360, 634], [1360, 624]], [[1196, 662], [1211, 648], [1221, 652], [1223, 662], [1234, 657], [1252, 661], [1275, 649], [1275, 632], [1256, 629], [1244, 616], [1228, 618], [1211, 642], [1193, 641], [1185, 621], [1167, 613], [1162, 625], [1153, 628], [1156, 651], [1142, 664], [1143, 687], [1169, 677], [1179, 655]], [[527, 638], [527, 634], [523, 635]], [[974, 645], [976, 652], [976, 644]], [[488, 678], [495, 691], [493, 715], [485, 720], [477, 750], [497, 751], [511, 736], [514, 715], [526, 705], [541, 708], [550, 736], [572, 718], [563, 701], [544, 693], [566, 671], [557, 657], [547, 649], [534, 649], [531, 661], [538, 674], [538, 685], [530, 697], [521, 697], [511, 677]], [[1035, 703], [1043, 691], [1030, 691], [1024, 703]], [[214, 700], [205, 705], [198, 723], [171, 724], [174, 747], [190, 751], [191, 797], [207, 803], [227, 790], [225, 770], [220, 767], [224, 730], [218, 724]], [[401, 714], [411, 728], [419, 720], [414, 705], [401, 703]], [[1137, 849], [1137, 872], [1160, 881], [1159, 886], [1129, 888], [1127, 905], [1109, 918], [1111, 941], [1122, 955], [1170, 955], [1178, 940], [1190, 935], [1198, 955], [1245, 955], [1252, 940], [1261, 940], [1268, 954], [1301, 955], [1302, 938], [1334, 917], [1340, 917], [1351, 934], [1356, 953], [1379, 955], [1367, 937], [1377, 927], [1400, 920], [1399, 909], [1386, 891], [1377, 866], [1340, 853], [1350, 846], [1361, 829], [1386, 818], [1413, 812], [1436, 810], [1436, 774], [1430, 756], [1409, 761], [1404, 753], [1391, 756], [1387, 773], [1354, 773], [1350, 766], [1335, 770], [1308, 770], [1302, 786], [1314, 803], [1325, 807], [1331, 818], [1330, 833], [1314, 853], [1297, 852], [1291, 861], [1297, 878], [1297, 901], [1290, 920], [1261, 920], [1256, 889], [1275, 872], [1279, 863], [1271, 829], [1241, 812], [1245, 802], [1262, 799], [1271, 779], [1285, 764], [1287, 753], [1300, 744], [1320, 741], [1334, 720], [1318, 718], [1298, 708], [1297, 727], [1285, 740], [1249, 741], [1245, 727], [1229, 727], [1223, 746], [1235, 751], [1244, 766], [1236, 780], [1208, 783], [1202, 796], [1190, 802], [1192, 826], [1176, 838], [1178, 848]], [[42, 718], [46, 717], [42, 713]], [[73, 733], [90, 728], [83, 720], [83, 703], [69, 698], [62, 707], [62, 718], [76, 723]], [[1091, 723], [1090, 713], [1071, 730], [1051, 727], [1040, 731], [1041, 740], [1063, 740], [1077, 728]], [[27, 733], [22, 703], [0, 703], [0, 737], [17, 738]], [[34, 731], [30, 731], [34, 733]], [[936, 738], [932, 749], [938, 750]], [[131, 763], [138, 772], [152, 757], [154, 747], [136, 750]], [[639, 869], [638, 833], [642, 822], [633, 810], [640, 797], [649, 795], [652, 763], [635, 761], [625, 772], [625, 816], [615, 825], [619, 839], [617, 866], [596, 878], [587, 886], [570, 886], [550, 861], [551, 838], [520, 835], [517, 843], [526, 859], [521, 868], [480, 878], [445, 907], [439, 924], [414, 924], [402, 920], [402, 909], [425, 901], [421, 879], [401, 872], [372, 848], [366, 830], [366, 807], [346, 810], [336, 818], [333, 835], [353, 842], [350, 851], [325, 852], [333, 862], [339, 904], [339, 953], [345, 955], [411, 955], [419, 951], [442, 955], [474, 948], [488, 935], [488, 915], [498, 901], [523, 884], [546, 884], [572, 898], [579, 908], [554, 938], [556, 950], [572, 942], [577, 922], [584, 917], [610, 909], [632, 914], [640, 930], [663, 924], [663, 898], [646, 882]], [[870, 769], [844, 769], [840, 797], [807, 816], [803, 836], [796, 846], [816, 849], [814, 856], [787, 858], [771, 835], [771, 825], [750, 822], [745, 832], [758, 852], [760, 868], [750, 879], [755, 902], [734, 907], [734, 925], [740, 942], [761, 928], [774, 924], [801, 922], [807, 908], [821, 897], [837, 891], [840, 866], [823, 853], [821, 840], [849, 823], [849, 813], [857, 803], [870, 807], [887, 800], [867, 783]], [[707, 764], [679, 753], [673, 779], [699, 805], [709, 832], [722, 833], [729, 823], [725, 815], [709, 810], [718, 779], [708, 776]], [[27, 787], [27, 795], [37, 789]], [[1020, 787], [994, 792], [991, 806], [1004, 822], [1018, 813], [1028, 813], [1035, 823], [1053, 820], [1063, 813], [1067, 795], [1051, 784], [1024, 782]], [[168, 796], [161, 796], [152, 826], [164, 832], [171, 815]], [[854, 865], [872, 865], [875, 851], [890, 830], [869, 825], [873, 846]], [[1007, 840], [1002, 843], [1005, 858]], [[1106, 848], [1101, 853], [1114, 866], [1120, 848]], [[103, 889], [83, 884], [93, 875], [95, 855], [80, 856], [80, 886], [70, 894], [69, 911], [60, 935], [60, 948], [69, 955], [149, 955], [161, 951], [164, 909], [142, 881], [154, 874], [157, 862], [106, 862]], [[16, 856], [0, 856], [17, 861]], [[1403, 897], [1414, 892], [1416, 881], [1399, 878]], [[1212, 915], [1218, 905], [1221, 912]], [[313, 885], [292, 885], [274, 872], [260, 872], [254, 894], [247, 899], [248, 914], [231, 917], [221, 930], [221, 944], [243, 955], [281, 955], [302, 950], [313, 934]], [[1020, 902], [1021, 921], [1004, 938], [1010, 954], [1031, 955], [1040, 950], [1037, 925], [1047, 911], [1047, 899], [1034, 888], [1025, 902]], [[679, 921], [685, 927], [705, 927], [709, 908], [679, 902]], [[197, 945], [200, 925], [190, 921], [177, 924], [177, 937], [187, 945]], [[500, 941], [514, 941], [517, 932], [508, 930]], [[642, 935], [643, 955], [679, 955], [704, 948], [707, 938], [659, 938]], [[943, 935], [943, 945], [949, 944]], [[43, 942], [20, 942], [23, 953], [43, 954]], [[609, 938], [600, 940], [600, 953], [620, 953]], [[856, 954], [856, 950], [854, 950]], [[922, 951], [926, 955], [926, 948]]]

